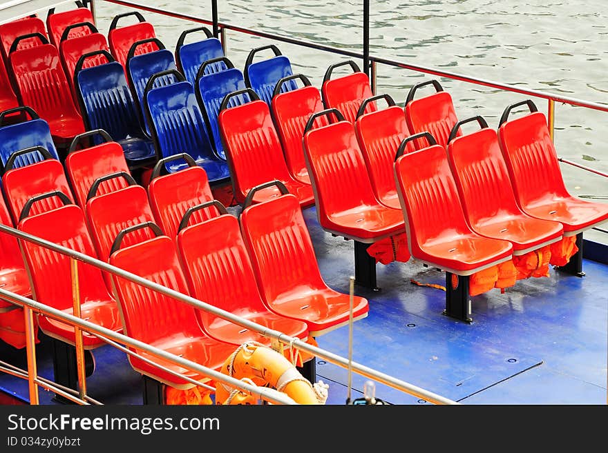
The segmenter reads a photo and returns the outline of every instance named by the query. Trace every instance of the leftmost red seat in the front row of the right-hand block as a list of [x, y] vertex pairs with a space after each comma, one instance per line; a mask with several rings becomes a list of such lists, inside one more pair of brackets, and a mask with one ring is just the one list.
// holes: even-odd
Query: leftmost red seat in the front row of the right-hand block
[[446, 150], [434, 140], [399, 156], [395, 178], [414, 258], [462, 276], [511, 258], [511, 243], [480, 236], [468, 226]]

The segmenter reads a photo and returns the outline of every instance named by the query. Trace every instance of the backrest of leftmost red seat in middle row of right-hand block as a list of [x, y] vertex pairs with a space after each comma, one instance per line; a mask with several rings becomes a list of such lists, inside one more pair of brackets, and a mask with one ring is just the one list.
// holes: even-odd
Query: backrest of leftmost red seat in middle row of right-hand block
[[[310, 128], [317, 116], [335, 114], [337, 123]], [[357, 208], [377, 205], [354, 126], [336, 109], [310, 117], [304, 132], [304, 153], [314, 189], [319, 220]]]

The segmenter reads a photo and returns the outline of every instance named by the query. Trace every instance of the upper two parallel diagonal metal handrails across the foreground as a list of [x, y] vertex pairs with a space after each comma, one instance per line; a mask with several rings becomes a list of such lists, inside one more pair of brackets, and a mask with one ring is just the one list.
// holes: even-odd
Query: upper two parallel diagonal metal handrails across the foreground
[[[62, 245], [58, 245], [53, 242], [46, 241], [46, 239], [41, 239], [37, 236], [33, 236], [32, 234], [28, 234], [26, 232], [16, 230], [15, 228], [11, 228], [7, 225], [0, 224], [0, 232], [5, 232], [7, 234], [10, 234], [11, 236], [15, 236], [19, 239], [19, 241], [28, 241], [30, 243], [35, 243], [35, 244], [40, 245], [41, 247], [47, 248], [49, 250], [53, 250], [60, 254], [70, 256], [71, 259], [74, 259], [77, 261], [82, 261], [83, 263], [93, 265], [95, 268], [104, 270], [105, 272], [108, 272], [108, 273], [116, 275], [116, 276], [120, 276], [123, 279], [132, 281], [133, 283], [137, 283], [138, 285], [142, 285], [144, 288], [149, 288], [150, 290], [159, 292], [160, 294], [164, 294], [165, 296], [169, 296], [175, 300], [182, 301], [184, 303], [188, 303], [189, 305], [192, 305], [193, 307], [198, 308], [199, 310], [205, 310], [207, 312], [211, 312], [212, 314], [215, 314], [216, 316], [220, 316], [223, 319], [227, 319], [227, 320], [229, 320], [233, 323], [236, 323], [238, 325], [241, 325], [245, 328], [254, 330], [255, 332], [263, 334], [264, 336], [267, 336], [270, 339], [279, 341], [280, 343], [283, 343], [284, 345], [289, 345], [289, 347], [293, 347], [298, 350], [303, 350], [305, 352], [309, 352], [313, 356], [325, 359], [326, 361], [334, 363], [335, 365], [340, 365], [343, 368], [348, 368], [350, 366], [353, 371], [357, 372], [358, 374], [361, 374], [362, 376], [366, 376], [370, 379], [374, 379], [375, 381], [378, 381], [379, 383], [383, 383], [385, 385], [393, 387], [397, 390], [400, 390], [401, 392], [405, 392], [405, 393], [411, 394], [413, 396], [417, 396], [418, 398], [429, 401], [430, 403], [458, 404], [457, 402], [452, 401], [448, 398], [445, 398], [444, 396], [435, 394], [433, 392], [425, 390], [421, 387], [418, 387], [417, 385], [413, 385], [406, 381], [401, 381], [400, 379], [396, 379], [393, 376], [389, 376], [388, 374], [384, 374], [377, 370], [373, 370], [372, 368], [368, 368], [359, 363], [349, 363], [349, 361], [347, 359], [345, 359], [337, 354], [333, 354], [332, 352], [318, 348], [314, 345], [310, 345], [309, 343], [305, 343], [305, 341], [302, 341], [301, 339], [298, 339], [297, 337], [292, 337], [287, 334], [284, 334], [283, 332], [279, 332], [278, 330], [269, 329], [258, 323], [254, 323], [247, 319], [243, 319], [240, 316], [236, 316], [235, 314], [232, 314], [231, 312], [227, 312], [227, 311], [222, 310], [221, 308], [218, 308], [209, 303], [205, 303], [198, 299], [194, 299], [193, 297], [188, 296], [187, 294], [183, 294], [181, 292], [172, 290], [171, 288], [167, 288], [165, 286], [159, 285], [158, 283], [154, 283], [153, 281], [146, 280], [146, 279], [142, 278], [141, 276], [138, 276], [138, 275], [132, 274], [131, 272], [127, 272], [126, 270], [117, 268], [109, 263], [105, 263], [104, 261], [100, 261], [99, 259], [88, 256], [87, 254], [84, 254], [81, 252], [76, 252], [75, 250], [71, 250], [69, 248], [63, 247]], [[32, 309], [35, 308], [37, 310], [44, 310], [46, 308], [47, 312], [49, 314], [53, 314], [53, 316], [57, 315], [60, 318], [61, 318], [61, 316], [68, 316], [70, 318], [70, 322], [76, 321], [77, 323], [82, 323], [82, 325], [77, 324], [79, 327], [84, 326], [84, 328], [86, 328], [86, 330], [93, 329], [93, 332], [95, 332], [97, 334], [101, 334], [102, 336], [106, 336], [109, 339], [118, 341], [119, 343], [124, 343], [124, 341], [131, 341], [131, 343], [124, 343], [124, 344], [129, 344], [135, 348], [146, 350], [148, 352], [151, 352], [151, 354], [154, 354], [150, 350], [150, 348], [152, 348], [152, 347], [149, 345], [146, 345], [146, 343], [142, 343], [141, 341], [137, 341], [135, 339], [130, 339], [130, 337], [128, 337], [128, 336], [124, 336], [122, 334], [117, 334], [116, 332], [113, 332], [106, 328], [100, 328], [99, 326], [97, 326], [93, 323], [89, 323], [88, 321], [83, 321], [83, 320], [79, 319], [77, 316], [65, 314], [63, 312], [60, 312], [59, 310], [55, 310], [53, 308], [48, 307], [48, 305], [44, 305], [39, 302], [31, 301], [30, 299], [27, 299], [23, 296], [17, 296], [16, 294], [12, 294], [10, 292], [7, 292], [6, 290], [2, 290], [1, 288], [0, 288], [0, 295], [7, 296], [8, 301], [10, 301], [10, 297], [12, 297], [13, 299], [19, 301], [22, 305], [28, 305], [28, 307], [32, 308]], [[119, 336], [117, 336], [117, 335], [119, 335]], [[144, 347], [142, 347], [142, 345]], [[155, 348], [153, 348], [153, 349], [155, 349]], [[168, 354], [167, 352], [162, 352], [161, 357], [163, 359], [171, 360], [171, 355], [172, 354]], [[177, 363], [178, 365], [185, 366], [185, 364], [188, 362], [193, 363], [193, 362], [187, 361], [187, 360], [182, 359], [177, 356], [174, 356], [174, 357], [175, 357], [174, 363]], [[202, 367], [201, 365], [198, 365], [198, 364], [195, 364], [195, 365], [197, 368], [193, 368], [193, 370], [196, 372], [200, 372], [200, 373], [208, 375], [208, 376], [213, 376], [214, 378], [216, 378], [220, 381], [222, 380], [222, 376], [226, 377], [225, 374], [218, 373], [214, 370], [206, 369], [205, 367]], [[243, 387], [242, 385], [237, 385], [237, 383], [239, 383], [239, 382], [240, 381], [230, 379], [229, 383], [230, 383], [230, 385], [233, 385], [233, 386], [245, 388], [245, 390], [249, 390], [249, 391], [254, 390], [254, 387], [247, 388], [247, 387]]]

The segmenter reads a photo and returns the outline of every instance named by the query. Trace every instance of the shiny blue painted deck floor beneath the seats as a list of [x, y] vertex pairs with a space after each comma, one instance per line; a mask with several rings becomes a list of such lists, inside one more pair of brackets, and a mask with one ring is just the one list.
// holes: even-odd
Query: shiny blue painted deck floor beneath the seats
[[[314, 208], [305, 210], [321, 273], [327, 284], [348, 292], [354, 272], [352, 241], [321, 230]], [[441, 314], [445, 292], [412, 285], [410, 279], [444, 285], [444, 274], [420, 263], [377, 265], [380, 292], [356, 287], [370, 313], [354, 323], [353, 360], [464, 404], [605, 404], [607, 401], [608, 265], [585, 260], [585, 277], [551, 270], [549, 278], [518, 281], [504, 294], [473, 298], [473, 323]], [[348, 327], [316, 339], [321, 348], [348, 356]], [[47, 341], [38, 348], [39, 372], [53, 377]], [[140, 376], [122, 352], [95, 352], [97, 370], [88, 392], [104, 403], [140, 404]], [[23, 352], [0, 345], [0, 356], [24, 367]], [[317, 379], [330, 384], [328, 404], [343, 404], [347, 371], [317, 365]], [[352, 398], [365, 379], [352, 375]], [[27, 383], [0, 375], [0, 388], [27, 401]], [[395, 404], [424, 404], [377, 385], [377, 397]], [[42, 403], [52, 394], [41, 392]]]

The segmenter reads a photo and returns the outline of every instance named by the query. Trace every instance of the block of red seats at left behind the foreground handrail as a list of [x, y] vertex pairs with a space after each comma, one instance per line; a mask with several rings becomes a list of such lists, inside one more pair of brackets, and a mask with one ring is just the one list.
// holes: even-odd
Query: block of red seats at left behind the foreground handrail
[[[160, 174], [163, 165], [157, 165], [146, 190], [131, 178], [120, 145], [109, 142], [68, 154], [66, 174], [56, 159], [9, 170], [3, 192], [15, 222], [7, 224], [289, 336], [319, 336], [348, 323], [349, 297], [323, 281], [293, 195], [247, 207], [239, 223], [213, 201], [205, 170], [192, 163]], [[23, 288], [6, 289], [27, 295], [17, 242], [0, 236], [14, 245], [3, 262], [15, 263], [15, 275], [23, 277]], [[23, 252], [35, 298], [71, 312], [69, 259], [32, 243], [23, 243]], [[124, 329], [211, 368], [219, 369], [234, 345], [251, 339], [269, 343], [218, 316], [199, 310], [191, 316], [191, 307], [90, 265], [79, 263], [79, 276], [82, 314], [89, 321]], [[124, 323], [110, 295], [113, 288]], [[367, 312], [367, 301], [356, 297], [354, 319]], [[39, 316], [39, 325], [53, 338], [74, 343], [68, 325], [46, 316]], [[85, 335], [87, 349], [102, 344]], [[161, 382], [189, 385], [145, 361], [131, 363]]]

